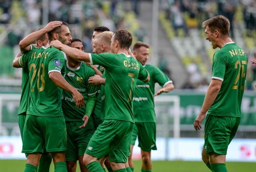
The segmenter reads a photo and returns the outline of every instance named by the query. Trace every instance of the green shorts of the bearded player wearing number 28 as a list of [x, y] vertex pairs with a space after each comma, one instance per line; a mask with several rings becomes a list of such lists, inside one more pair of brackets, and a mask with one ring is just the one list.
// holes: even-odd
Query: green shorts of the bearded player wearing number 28
[[27, 114], [22, 153], [66, 151], [67, 133], [63, 116], [45, 117]]

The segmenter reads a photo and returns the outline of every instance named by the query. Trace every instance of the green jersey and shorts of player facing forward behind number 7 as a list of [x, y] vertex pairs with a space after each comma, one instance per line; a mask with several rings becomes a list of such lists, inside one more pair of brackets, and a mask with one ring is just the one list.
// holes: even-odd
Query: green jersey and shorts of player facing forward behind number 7
[[155, 83], [164, 87], [172, 80], [156, 66], [145, 65], [150, 75], [147, 83], [137, 81], [133, 97], [135, 126], [132, 131], [131, 144], [135, 144], [138, 136], [139, 147], [144, 151], [156, 150], [156, 114], [154, 109]]

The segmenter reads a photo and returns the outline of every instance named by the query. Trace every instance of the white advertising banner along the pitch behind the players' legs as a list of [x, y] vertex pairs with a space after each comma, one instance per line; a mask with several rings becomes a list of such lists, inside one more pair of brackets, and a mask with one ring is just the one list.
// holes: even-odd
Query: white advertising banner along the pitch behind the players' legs
[[[152, 150], [152, 160], [201, 161], [203, 138], [156, 138], [157, 150]], [[0, 136], [0, 159], [26, 159], [21, 153], [20, 136]], [[141, 159], [138, 140], [133, 158]], [[256, 162], [256, 139], [234, 139], [228, 147], [227, 161]]]

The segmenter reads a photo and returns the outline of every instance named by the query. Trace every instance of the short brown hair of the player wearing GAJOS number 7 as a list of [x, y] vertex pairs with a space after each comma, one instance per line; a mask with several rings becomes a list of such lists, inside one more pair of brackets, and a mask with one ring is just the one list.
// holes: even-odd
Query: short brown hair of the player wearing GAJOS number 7
[[113, 36], [115, 41], [119, 41], [120, 48], [129, 49], [132, 45], [132, 34], [125, 29], [117, 30]]

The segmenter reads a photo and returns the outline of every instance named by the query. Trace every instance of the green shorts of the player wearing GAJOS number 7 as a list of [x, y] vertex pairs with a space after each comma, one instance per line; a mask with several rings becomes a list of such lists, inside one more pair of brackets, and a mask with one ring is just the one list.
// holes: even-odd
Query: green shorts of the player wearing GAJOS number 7
[[126, 163], [134, 123], [105, 119], [94, 132], [85, 153], [96, 158], [109, 154], [110, 162]]

